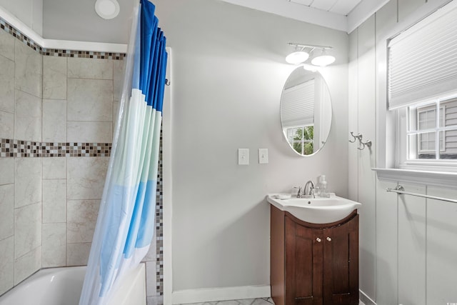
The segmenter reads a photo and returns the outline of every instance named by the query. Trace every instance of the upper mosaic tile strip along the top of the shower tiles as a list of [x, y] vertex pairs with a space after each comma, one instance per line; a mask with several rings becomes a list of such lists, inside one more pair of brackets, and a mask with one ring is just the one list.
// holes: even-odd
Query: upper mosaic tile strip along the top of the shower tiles
[[124, 53], [112, 53], [112, 52], [96, 52], [96, 51], [73, 51], [64, 49], [44, 49], [35, 41], [29, 39], [18, 29], [11, 26], [4, 19], [0, 18], [0, 28], [6, 33], [13, 37], [16, 37], [19, 41], [31, 47], [35, 51], [38, 51], [43, 56], [59, 56], [59, 57], [77, 57], [84, 59], [113, 59], [123, 60], [126, 54]]

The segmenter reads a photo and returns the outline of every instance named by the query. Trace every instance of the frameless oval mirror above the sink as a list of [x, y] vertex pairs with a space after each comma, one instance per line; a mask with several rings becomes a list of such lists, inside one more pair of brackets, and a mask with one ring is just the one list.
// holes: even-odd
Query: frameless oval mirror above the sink
[[326, 81], [318, 71], [298, 66], [281, 94], [281, 125], [291, 149], [301, 156], [316, 154], [326, 144], [331, 116]]

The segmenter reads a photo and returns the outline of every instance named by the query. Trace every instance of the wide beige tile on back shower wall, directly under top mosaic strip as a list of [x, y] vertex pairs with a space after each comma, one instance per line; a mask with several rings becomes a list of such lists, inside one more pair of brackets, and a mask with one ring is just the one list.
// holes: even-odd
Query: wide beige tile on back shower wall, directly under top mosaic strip
[[113, 79], [113, 61], [110, 59], [68, 59], [69, 78]]

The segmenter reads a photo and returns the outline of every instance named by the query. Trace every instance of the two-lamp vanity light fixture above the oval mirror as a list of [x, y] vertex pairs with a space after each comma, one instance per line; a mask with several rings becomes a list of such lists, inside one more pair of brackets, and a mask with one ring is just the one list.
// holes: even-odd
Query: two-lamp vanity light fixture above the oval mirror
[[[327, 50], [333, 49], [331, 46], [315, 46], [312, 44], [298, 44], [295, 42], [289, 42], [289, 46], [294, 46], [295, 50], [286, 56], [286, 61], [289, 64], [301, 64], [304, 63], [313, 54], [314, 50], [321, 50], [318, 56], [315, 56], [311, 60], [311, 64], [303, 65], [303, 68], [310, 71], [316, 71], [317, 66], [328, 66], [335, 61], [335, 57], [326, 54]], [[298, 51], [297, 51], [298, 50]], [[312, 68], [314, 67], [314, 69]]]

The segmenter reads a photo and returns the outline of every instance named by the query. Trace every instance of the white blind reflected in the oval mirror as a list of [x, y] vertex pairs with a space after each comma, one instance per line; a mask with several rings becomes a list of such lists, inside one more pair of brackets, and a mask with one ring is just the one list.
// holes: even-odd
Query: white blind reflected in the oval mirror
[[314, 79], [284, 89], [281, 122], [283, 128], [314, 123]]

